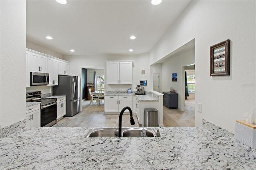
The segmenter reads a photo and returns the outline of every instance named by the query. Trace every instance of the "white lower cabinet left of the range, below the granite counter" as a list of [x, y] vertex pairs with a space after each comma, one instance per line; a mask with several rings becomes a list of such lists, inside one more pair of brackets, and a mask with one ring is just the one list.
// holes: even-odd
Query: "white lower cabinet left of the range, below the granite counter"
[[26, 125], [27, 127], [41, 127], [40, 104], [26, 108]]

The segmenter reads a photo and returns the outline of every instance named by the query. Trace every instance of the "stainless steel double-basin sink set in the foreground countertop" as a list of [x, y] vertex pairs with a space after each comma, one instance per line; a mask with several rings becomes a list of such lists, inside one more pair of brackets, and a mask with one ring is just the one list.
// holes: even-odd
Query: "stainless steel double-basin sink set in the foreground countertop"
[[[122, 128], [122, 137], [141, 137], [143, 128]], [[153, 128], [144, 128], [147, 137], [156, 137], [156, 132]], [[118, 128], [92, 128], [86, 134], [88, 137], [118, 137]]]

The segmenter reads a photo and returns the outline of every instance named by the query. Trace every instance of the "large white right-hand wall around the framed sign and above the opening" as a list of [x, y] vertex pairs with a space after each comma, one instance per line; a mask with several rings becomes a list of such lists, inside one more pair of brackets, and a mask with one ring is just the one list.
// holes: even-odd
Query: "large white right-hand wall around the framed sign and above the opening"
[[[234, 133], [235, 121], [256, 107], [255, 9], [255, 1], [192, 1], [150, 51], [152, 64], [195, 39], [196, 127], [206, 119]], [[210, 46], [227, 39], [230, 76], [211, 77]]]

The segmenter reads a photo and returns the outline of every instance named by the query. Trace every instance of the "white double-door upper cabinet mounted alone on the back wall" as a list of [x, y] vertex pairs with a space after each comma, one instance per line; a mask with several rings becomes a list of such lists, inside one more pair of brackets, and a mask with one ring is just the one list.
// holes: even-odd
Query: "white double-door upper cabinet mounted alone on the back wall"
[[107, 62], [107, 84], [132, 84], [132, 62]]

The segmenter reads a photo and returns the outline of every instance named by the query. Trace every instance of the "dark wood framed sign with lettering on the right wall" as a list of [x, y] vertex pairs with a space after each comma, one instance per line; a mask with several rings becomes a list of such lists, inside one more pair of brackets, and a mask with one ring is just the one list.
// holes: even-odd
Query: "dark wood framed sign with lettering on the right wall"
[[210, 76], [230, 75], [229, 40], [210, 47]]

